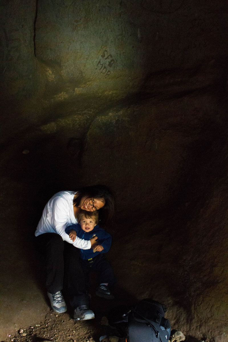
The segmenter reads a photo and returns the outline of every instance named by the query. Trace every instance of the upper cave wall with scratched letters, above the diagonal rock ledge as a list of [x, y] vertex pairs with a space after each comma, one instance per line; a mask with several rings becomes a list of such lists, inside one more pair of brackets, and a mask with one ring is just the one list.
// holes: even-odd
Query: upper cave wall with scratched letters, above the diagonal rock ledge
[[3, 139], [57, 118], [59, 103], [75, 101], [62, 117], [97, 114], [134, 91], [186, 91], [224, 75], [223, 1], [13, 0], [1, 10]]

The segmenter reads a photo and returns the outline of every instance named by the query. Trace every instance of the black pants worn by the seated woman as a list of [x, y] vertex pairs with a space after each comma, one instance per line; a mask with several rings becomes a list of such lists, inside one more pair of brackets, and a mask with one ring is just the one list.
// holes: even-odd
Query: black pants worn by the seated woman
[[54, 294], [63, 288], [73, 309], [89, 306], [84, 273], [79, 262], [79, 249], [63, 241], [56, 233], [45, 233], [35, 238], [46, 271], [46, 288]]

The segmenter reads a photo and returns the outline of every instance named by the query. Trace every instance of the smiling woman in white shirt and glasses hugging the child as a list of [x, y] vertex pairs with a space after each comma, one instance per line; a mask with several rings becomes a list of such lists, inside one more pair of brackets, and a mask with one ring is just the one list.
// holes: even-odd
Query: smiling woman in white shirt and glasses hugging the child
[[55, 312], [62, 313], [67, 310], [61, 292], [64, 285], [74, 310], [74, 319], [94, 318], [93, 311], [89, 310], [89, 295], [85, 290], [78, 248], [93, 248], [97, 244], [97, 238], [86, 241], [76, 237], [73, 242], [65, 233], [65, 228], [78, 223], [77, 215], [81, 209], [99, 210], [99, 216], [110, 220], [113, 216], [113, 203], [110, 189], [105, 185], [95, 185], [78, 188], [76, 191], [58, 192], [46, 204], [35, 232], [35, 244], [44, 257], [46, 287]]

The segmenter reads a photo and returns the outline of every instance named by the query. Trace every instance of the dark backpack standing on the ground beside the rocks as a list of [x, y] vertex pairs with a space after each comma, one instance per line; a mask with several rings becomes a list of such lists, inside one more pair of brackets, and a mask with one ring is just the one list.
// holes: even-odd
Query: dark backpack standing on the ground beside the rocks
[[165, 305], [152, 299], [143, 299], [128, 315], [127, 342], [167, 342], [170, 321], [164, 318]]

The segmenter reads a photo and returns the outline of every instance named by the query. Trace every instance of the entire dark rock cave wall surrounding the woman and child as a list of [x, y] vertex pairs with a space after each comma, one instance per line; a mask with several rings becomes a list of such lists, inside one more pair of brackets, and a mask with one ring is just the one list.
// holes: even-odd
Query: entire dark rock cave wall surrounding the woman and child
[[225, 1], [0, 8], [1, 338], [49, 311], [32, 245], [46, 201], [99, 183], [118, 284], [95, 314], [152, 297], [186, 341], [227, 342]]

